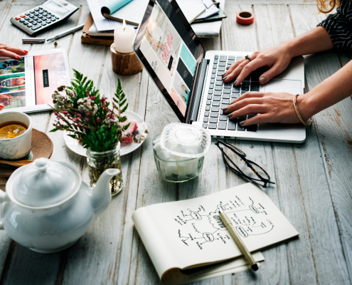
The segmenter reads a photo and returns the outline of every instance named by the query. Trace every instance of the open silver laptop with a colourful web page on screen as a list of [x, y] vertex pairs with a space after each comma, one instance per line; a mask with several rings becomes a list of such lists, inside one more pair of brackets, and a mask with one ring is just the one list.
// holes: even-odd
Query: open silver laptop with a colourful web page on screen
[[205, 51], [175, 0], [149, 0], [133, 49], [181, 123], [206, 128], [215, 138], [304, 142], [302, 124], [242, 128], [239, 122], [246, 118], [228, 120], [221, 110], [247, 91], [303, 94], [302, 56], [265, 85], [259, 83], [262, 68], [240, 86], [225, 84], [222, 74], [226, 67], [252, 52]]

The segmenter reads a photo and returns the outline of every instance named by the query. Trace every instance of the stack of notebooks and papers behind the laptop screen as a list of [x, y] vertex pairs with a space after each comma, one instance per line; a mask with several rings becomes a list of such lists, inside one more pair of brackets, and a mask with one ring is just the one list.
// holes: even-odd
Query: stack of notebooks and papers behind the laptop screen
[[[176, 0], [193, 31], [201, 38], [218, 37], [225, 0]], [[110, 46], [114, 41], [114, 29], [141, 23], [149, 0], [87, 0], [90, 15], [85, 22], [81, 37], [82, 43], [95, 43]]]

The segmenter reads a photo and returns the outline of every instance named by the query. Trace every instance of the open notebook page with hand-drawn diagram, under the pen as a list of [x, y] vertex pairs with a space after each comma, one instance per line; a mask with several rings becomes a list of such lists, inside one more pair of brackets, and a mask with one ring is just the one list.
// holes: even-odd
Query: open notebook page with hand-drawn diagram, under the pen
[[[164, 247], [177, 261], [174, 266], [181, 269], [241, 255], [221, 222], [219, 209], [228, 214], [250, 252], [298, 235], [265, 192], [252, 183], [195, 199], [154, 204], [145, 209], [161, 235]], [[146, 232], [146, 238], [151, 240], [155, 234]]]

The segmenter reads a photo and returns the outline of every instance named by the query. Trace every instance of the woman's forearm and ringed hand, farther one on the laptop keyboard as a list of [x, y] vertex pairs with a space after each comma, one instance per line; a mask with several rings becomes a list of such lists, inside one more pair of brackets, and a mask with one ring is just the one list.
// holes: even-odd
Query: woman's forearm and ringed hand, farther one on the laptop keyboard
[[292, 40], [283, 41], [278, 46], [252, 53], [250, 55], [252, 61], [243, 58], [233, 63], [223, 75], [223, 81], [228, 83], [236, 78], [233, 85], [238, 86], [252, 71], [262, 66], [269, 66], [270, 69], [260, 76], [260, 83], [264, 84], [282, 73], [294, 56], [318, 53], [331, 48], [334, 48], [334, 43], [329, 33], [319, 26]]

